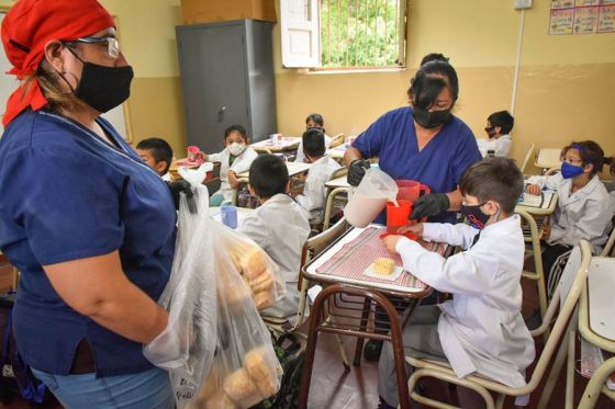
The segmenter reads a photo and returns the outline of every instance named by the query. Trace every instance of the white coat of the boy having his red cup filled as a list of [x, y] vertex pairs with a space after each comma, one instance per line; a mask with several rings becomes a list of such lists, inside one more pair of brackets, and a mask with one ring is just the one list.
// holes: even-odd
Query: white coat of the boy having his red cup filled
[[445, 259], [407, 238], [398, 242], [396, 250], [404, 269], [454, 295], [439, 305], [438, 334], [455, 374], [476, 372], [521, 387], [526, 385], [525, 368], [535, 350], [521, 315], [525, 242], [519, 216], [487, 226], [470, 248], [478, 232], [462, 224], [426, 223], [425, 239], [467, 250]]

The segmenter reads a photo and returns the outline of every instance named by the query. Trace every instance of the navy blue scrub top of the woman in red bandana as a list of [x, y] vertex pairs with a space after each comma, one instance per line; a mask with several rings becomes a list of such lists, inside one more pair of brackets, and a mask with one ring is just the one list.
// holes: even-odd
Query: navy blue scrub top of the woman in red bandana
[[176, 212], [169, 190], [107, 121], [112, 147], [83, 126], [25, 111], [0, 139], [0, 248], [21, 271], [13, 310], [20, 354], [69, 374], [86, 339], [98, 376], [152, 368], [142, 344], [71, 309], [42, 265], [119, 250], [128, 280], [157, 300], [171, 271]]

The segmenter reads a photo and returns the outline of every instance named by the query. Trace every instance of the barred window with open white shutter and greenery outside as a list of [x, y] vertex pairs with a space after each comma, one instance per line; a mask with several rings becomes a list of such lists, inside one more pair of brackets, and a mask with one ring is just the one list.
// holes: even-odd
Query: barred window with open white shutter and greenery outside
[[407, 0], [280, 0], [282, 65], [366, 69], [405, 65]]

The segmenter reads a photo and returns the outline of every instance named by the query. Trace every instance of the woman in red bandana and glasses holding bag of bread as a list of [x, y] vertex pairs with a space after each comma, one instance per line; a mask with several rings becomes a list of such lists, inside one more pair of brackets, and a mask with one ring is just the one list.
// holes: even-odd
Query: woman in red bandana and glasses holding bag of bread
[[67, 408], [171, 408], [142, 345], [167, 326], [172, 197], [100, 117], [133, 70], [96, 0], [20, 0], [2, 44], [21, 81], [0, 139], [0, 249], [21, 271], [21, 357]]

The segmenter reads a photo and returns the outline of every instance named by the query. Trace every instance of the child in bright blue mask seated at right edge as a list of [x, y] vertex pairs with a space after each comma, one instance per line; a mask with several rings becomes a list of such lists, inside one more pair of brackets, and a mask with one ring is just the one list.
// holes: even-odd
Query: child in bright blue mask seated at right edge
[[600, 254], [613, 217], [613, 202], [597, 177], [604, 160], [602, 148], [593, 140], [573, 141], [562, 149], [561, 159], [560, 173], [532, 177], [526, 186], [529, 194], [538, 195], [543, 189], [558, 193], [556, 211], [543, 227], [543, 270], [549, 295], [581, 239], [590, 242], [593, 254]]

